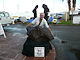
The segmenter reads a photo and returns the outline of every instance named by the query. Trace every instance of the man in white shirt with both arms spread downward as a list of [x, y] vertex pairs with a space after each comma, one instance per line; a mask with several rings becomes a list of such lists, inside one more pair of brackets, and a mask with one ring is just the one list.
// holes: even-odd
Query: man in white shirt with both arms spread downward
[[[46, 27], [46, 28], [48, 28], [51, 31], [47, 21], [44, 19], [44, 16], [45, 16], [44, 13], [40, 13], [40, 17], [35, 18], [34, 21], [32, 21], [32, 23], [27, 25], [27, 27], [31, 26], [32, 24], [35, 27], [35, 26], [39, 25], [39, 23], [41, 22], [40, 26], [42, 28]], [[52, 33], [52, 31], [51, 31], [51, 33]]]

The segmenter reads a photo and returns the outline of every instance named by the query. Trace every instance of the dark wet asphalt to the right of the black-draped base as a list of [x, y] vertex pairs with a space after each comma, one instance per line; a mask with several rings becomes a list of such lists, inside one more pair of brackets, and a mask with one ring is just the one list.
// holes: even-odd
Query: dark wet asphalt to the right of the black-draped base
[[80, 26], [51, 26], [56, 60], [80, 60]]

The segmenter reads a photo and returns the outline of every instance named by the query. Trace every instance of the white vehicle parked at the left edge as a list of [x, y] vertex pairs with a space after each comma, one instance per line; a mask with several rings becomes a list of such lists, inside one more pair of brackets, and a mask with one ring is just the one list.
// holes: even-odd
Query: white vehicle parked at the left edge
[[2, 25], [9, 25], [12, 23], [12, 20], [8, 12], [0, 12], [0, 23]]

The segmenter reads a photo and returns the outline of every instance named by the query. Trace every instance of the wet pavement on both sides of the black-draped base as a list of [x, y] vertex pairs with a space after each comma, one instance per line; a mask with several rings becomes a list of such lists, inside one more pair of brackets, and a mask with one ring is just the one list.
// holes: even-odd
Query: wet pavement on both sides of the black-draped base
[[[80, 60], [80, 26], [50, 25], [55, 39], [56, 60]], [[4, 27], [7, 38], [0, 36], [0, 60], [24, 60], [21, 54], [26, 41], [26, 25], [15, 24]]]

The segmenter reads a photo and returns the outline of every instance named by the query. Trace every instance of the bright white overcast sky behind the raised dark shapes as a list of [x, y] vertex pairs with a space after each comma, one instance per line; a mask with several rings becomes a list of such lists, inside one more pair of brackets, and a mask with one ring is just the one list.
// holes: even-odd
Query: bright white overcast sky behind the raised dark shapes
[[[68, 11], [67, 0], [0, 0], [0, 11], [7, 11], [12, 16], [33, 16], [32, 10], [38, 5], [37, 13], [44, 12], [42, 4], [46, 4], [51, 13]], [[80, 8], [80, 0], [77, 0], [76, 9]]]

